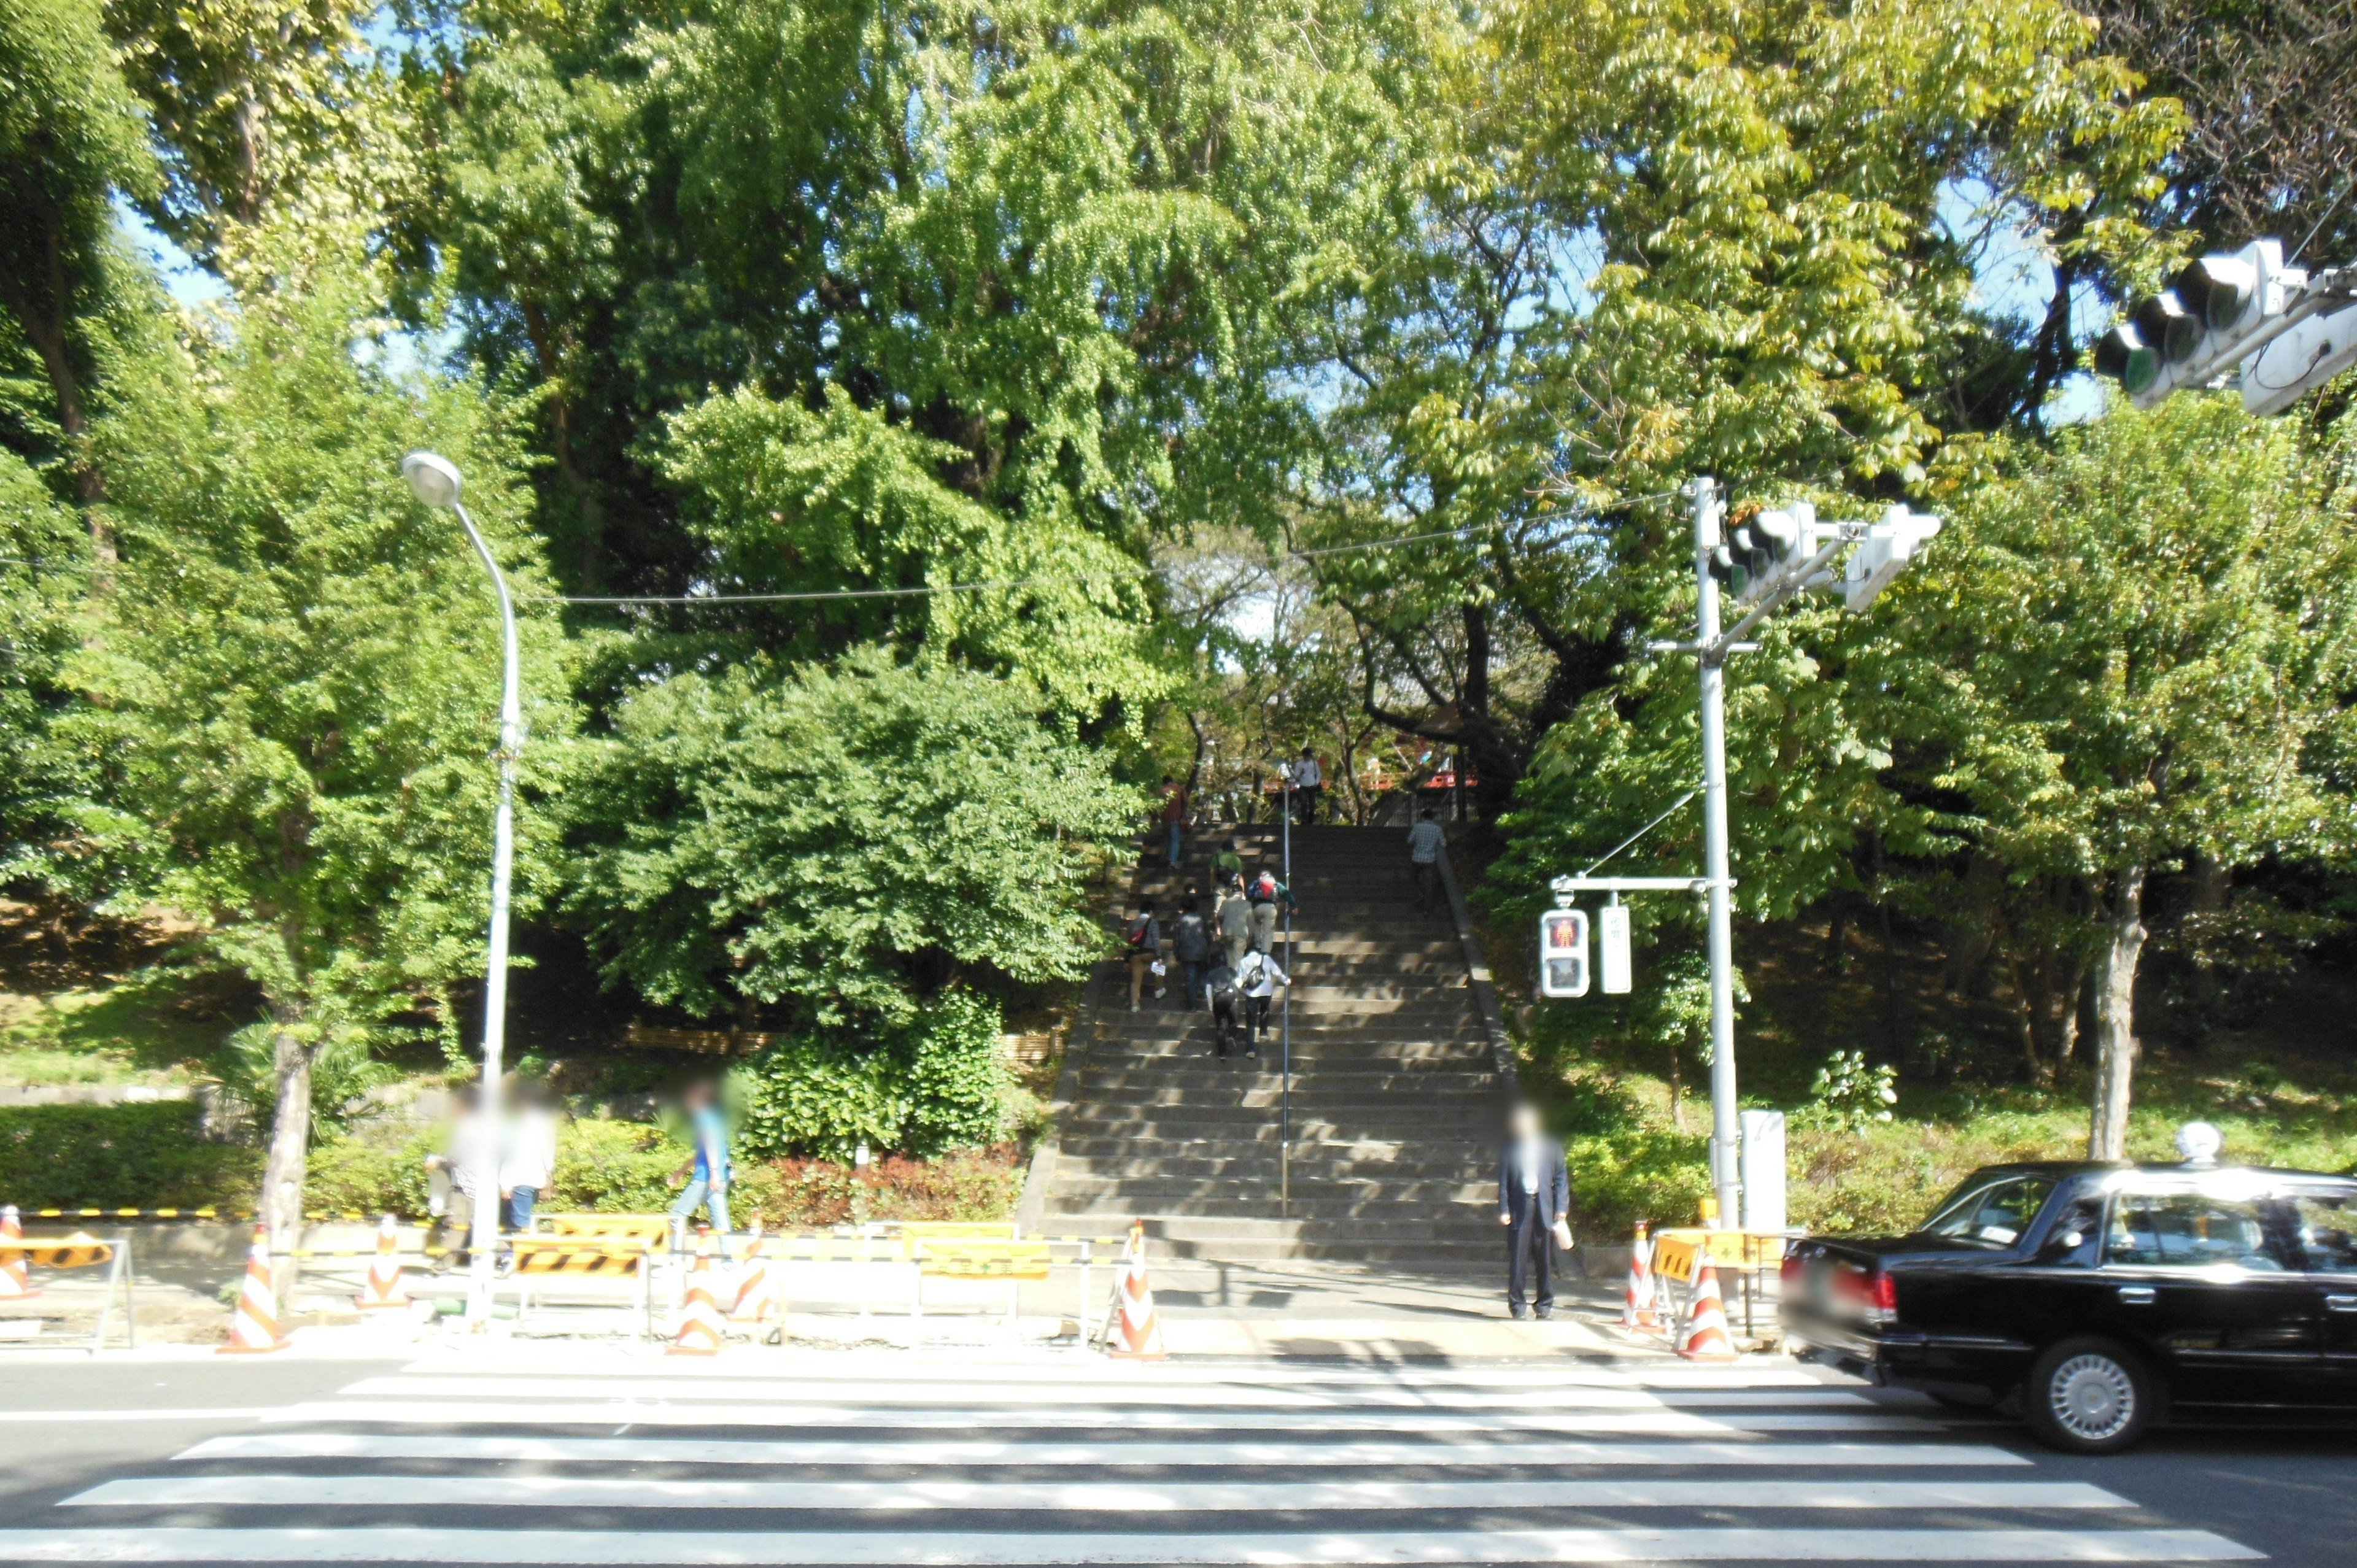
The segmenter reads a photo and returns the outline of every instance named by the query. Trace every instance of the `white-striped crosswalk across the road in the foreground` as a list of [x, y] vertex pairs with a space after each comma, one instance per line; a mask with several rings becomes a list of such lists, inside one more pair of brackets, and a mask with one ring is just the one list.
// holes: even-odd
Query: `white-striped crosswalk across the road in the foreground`
[[1329, 1368], [594, 1346], [247, 1412], [26, 1563], [2218, 1563], [2011, 1434], [1789, 1365]]

